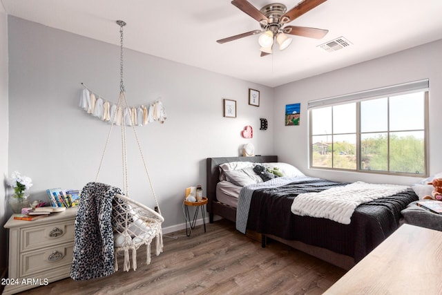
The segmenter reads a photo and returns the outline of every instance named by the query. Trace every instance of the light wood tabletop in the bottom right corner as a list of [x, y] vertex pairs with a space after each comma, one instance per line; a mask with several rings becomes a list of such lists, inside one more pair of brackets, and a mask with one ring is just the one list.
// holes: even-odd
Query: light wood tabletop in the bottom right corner
[[324, 294], [442, 294], [442, 231], [402, 225]]

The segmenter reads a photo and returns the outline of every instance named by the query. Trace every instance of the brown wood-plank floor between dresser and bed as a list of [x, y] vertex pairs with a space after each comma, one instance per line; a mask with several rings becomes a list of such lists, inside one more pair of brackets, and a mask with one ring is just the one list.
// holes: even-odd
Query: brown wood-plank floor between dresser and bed
[[[345, 274], [340, 269], [279, 242], [260, 242], [219, 220], [164, 236], [164, 251], [146, 265], [137, 251], [137, 270], [105, 278], [71, 278], [22, 294], [322, 294]], [[175, 237], [175, 238], [169, 238]], [[152, 245], [154, 249], [154, 245]], [[144, 251], [143, 251], [144, 250]]]

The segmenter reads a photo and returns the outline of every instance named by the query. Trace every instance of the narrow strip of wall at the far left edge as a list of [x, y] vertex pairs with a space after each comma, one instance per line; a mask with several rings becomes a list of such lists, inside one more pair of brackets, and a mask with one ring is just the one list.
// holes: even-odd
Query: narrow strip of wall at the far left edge
[[[8, 18], [0, 5], [0, 175], [8, 175]], [[0, 181], [0, 240], [6, 240], [6, 187]], [[0, 274], [6, 267], [6, 242], [0, 243]]]

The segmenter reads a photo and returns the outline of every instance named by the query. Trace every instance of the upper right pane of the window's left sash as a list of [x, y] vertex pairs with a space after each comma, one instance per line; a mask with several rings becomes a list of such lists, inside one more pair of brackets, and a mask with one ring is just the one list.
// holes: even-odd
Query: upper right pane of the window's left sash
[[333, 133], [356, 132], [356, 103], [333, 107]]

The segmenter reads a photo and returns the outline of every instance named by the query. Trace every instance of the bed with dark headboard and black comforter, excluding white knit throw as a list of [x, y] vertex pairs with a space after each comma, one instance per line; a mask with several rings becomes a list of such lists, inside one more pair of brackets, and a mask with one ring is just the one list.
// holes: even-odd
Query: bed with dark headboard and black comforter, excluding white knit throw
[[[221, 216], [236, 222], [238, 229], [240, 220], [237, 220], [237, 211], [241, 219], [242, 207], [238, 210], [237, 207], [241, 199], [240, 202], [238, 200], [235, 202], [234, 199], [226, 196], [229, 195], [226, 191], [231, 192], [230, 184], [227, 185], [227, 189], [224, 187], [220, 189], [220, 183], [226, 181], [223, 175], [220, 180], [219, 166], [231, 162], [278, 163], [278, 157], [268, 155], [207, 158], [209, 221], [213, 222], [213, 216]], [[256, 232], [262, 236], [263, 247], [265, 247], [265, 240], [271, 238], [343, 269], [352, 268], [387, 236], [390, 236], [399, 226], [401, 210], [405, 209], [410, 202], [418, 200], [412, 189], [406, 189], [392, 196], [360, 204], [354, 210], [350, 223], [345, 225], [327, 218], [296, 215], [291, 212], [291, 205], [298, 193], [343, 187], [347, 183], [308, 177], [295, 177], [294, 179], [294, 183], [289, 182], [278, 188], [266, 188], [263, 185], [261, 189], [254, 190], [249, 201], [249, 211], [246, 214], [247, 221], [244, 227], [247, 231]], [[238, 185], [233, 187], [236, 187], [238, 191]]]

